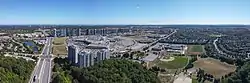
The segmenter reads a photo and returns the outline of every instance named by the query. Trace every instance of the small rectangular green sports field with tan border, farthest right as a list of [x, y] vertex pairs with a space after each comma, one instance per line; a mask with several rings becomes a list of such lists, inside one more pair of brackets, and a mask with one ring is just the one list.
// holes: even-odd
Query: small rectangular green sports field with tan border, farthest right
[[188, 54], [201, 54], [204, 52], [203, 45], [188, 45]]

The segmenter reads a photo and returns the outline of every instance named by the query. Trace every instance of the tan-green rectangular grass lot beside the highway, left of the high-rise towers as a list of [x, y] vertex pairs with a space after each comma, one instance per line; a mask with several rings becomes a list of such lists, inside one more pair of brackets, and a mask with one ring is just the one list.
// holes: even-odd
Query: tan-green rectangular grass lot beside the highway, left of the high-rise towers
[[54, 55], [67, 55], [66, 37], [55, 38], [53, 41], [53, 54]]

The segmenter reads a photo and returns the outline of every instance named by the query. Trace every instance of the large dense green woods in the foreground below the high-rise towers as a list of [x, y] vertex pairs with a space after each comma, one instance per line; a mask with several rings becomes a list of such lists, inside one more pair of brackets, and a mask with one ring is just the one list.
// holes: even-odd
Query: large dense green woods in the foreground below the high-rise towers
[[104, 60], [88, 68], [70, 66], [62, 58], [54, 62], [52, 83], [160, 83], [155, 72], [128, 60]]

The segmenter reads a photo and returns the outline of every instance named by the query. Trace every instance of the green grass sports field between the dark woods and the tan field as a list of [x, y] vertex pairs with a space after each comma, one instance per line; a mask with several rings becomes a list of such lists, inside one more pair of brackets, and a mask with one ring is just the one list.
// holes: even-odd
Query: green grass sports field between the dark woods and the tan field
[[178, 69], [183, 68], [186, 66], [188, 62], [188, 58], [185, 56], [176, 56], [173, 61], [159, 61], [157, 65], [161, 68], [167, 68], [167, 69]]

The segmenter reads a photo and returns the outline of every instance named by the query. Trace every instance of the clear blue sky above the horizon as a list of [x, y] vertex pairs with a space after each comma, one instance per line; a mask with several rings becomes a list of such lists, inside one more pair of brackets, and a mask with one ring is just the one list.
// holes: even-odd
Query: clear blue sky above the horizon
[[0, 0], [0, 24], [250, 24], [250, 0]]

